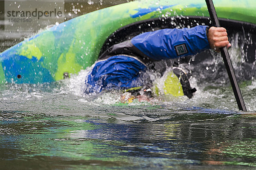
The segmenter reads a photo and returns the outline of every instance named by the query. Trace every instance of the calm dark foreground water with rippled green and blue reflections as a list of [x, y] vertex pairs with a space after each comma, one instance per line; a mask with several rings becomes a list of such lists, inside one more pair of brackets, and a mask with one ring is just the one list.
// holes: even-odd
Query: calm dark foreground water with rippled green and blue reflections
[[4, 169], [249, 169], [256, 165], [255, 116], [208, 113], [202, 108], [146, 108], [152, 109], [149, 117], [163, 113], [158, 116], [161, 120], [101, 117], [128, 110], [127, 116], [137, 116], [142, 108], [131, 106], [106, 106], [99, 117], [1, 111], [0, 164]]

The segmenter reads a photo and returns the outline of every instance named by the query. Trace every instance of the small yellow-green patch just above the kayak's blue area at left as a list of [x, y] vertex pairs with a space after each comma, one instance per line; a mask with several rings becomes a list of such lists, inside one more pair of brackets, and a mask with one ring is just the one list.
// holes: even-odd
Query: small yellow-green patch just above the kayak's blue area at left
[[42, 53], [40, 49], [33, 42], [32, 44], [28, 44], [26, 48], [22, 48], [20, 55], [32, 59], [32, 57], [36, 57], [38, 60], [41, 59]]

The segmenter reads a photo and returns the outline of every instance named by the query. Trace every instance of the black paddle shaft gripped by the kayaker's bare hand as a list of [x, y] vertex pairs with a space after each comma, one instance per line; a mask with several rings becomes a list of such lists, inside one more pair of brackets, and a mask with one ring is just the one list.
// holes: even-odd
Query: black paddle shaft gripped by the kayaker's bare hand
[[[221, 27], [212, 0], [205, 0], [205, 1], [207, 4], [207, 8], [208, 8], [213, 26]], [[236, 74], [234, 72], [234, 68], [233, 68], [233, 65], [232, 65], [232, 62], [230, 59], [230, 55], [227, 51], [227, 47], [221, 48], [221, 56], [224, 60], [224, 64], [226, 66], [227, 74], [230, 79], [230, 83], [232, 85], [239, 110], [246, 111], [246, 108], [244, 105], [244, 99], [243, 99], [243, 96], [241, 94], [241, 91], [240, 91], [240, 88], [239, 88], [239, 85], [238, 85], [238, 82], [236, 79]]]

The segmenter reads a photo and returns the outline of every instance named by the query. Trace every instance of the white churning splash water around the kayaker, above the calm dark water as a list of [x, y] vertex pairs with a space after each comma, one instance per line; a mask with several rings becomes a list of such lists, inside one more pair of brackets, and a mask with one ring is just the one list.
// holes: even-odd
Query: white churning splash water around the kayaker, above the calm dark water
[[[256, 111], [256, 81], [255, 61], [247, 62], [248, 54], [243, 52], [243, 48], [251, 44], [251, 36], [247, 38], [242, 34], [235, 34], [230, 37], [232, 47], [229, 49], [235, 72], [241, 82], [241, 91], [244, 94], [245, 104], [248, 111]], [[197, 56], [192, 57], [188, 63], [180, 63], [180, 66], [186, 68], [190, 74], [190, 83], [192, 88], [197, 91], [192, 99], [186, 96], [173, 97], [166, 96], [163, 93], [154, 95], [154, 102], [134, 102], [126, 103], [127, 105], [172, 105], [173, 108], [183, 107], [203, 107], [203, 108], [220, 108], [226, 110], [238, 110], [234, 99], [233, 91], [229, 85], [228, 77], [220, 54], [205, 54], [202, 62], [193, 64], [197, 61]], [[256, 58], [256, 57], [255, 57]], [[87, 74], [92, 70], [93, 66], [82, 70], [77, 75], [71, 75], [70, 79], [64, 79], [54, 83], [44, 84], [5, 84], [0, 85], [0, 108], [2, 110], [49, 110], [61, 108], [67, 112], [68, 105], [71, 109], [78, 110], [81, 105], [119, 105], [122, 97], [122, 91], [103, 92], [97, 95], [85, 95], [84, 84]], [[172, 68], [161, 77], [159, 73], [146, 71], [143, 74], [154, 82], [160, 91], [164, 85], [165, 76]], [[142, 77], [143, 78], [143, 77]], [[63, 103], [61, 103], [63, 102]]]

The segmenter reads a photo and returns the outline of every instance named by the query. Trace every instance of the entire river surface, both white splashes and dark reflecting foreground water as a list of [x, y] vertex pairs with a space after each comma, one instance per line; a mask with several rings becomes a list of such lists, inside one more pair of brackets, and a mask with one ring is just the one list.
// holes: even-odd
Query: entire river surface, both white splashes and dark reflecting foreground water
[[85, 96], [90, 68], [59, 82], [0, 85], [0, 169], [255, 169], [255, 62], [241, 67], [238, 37], [230, 54], [248, 112], [238, 110], [221, 57], [210, 53], [184, 66], [198, 90], [192, 99]]

